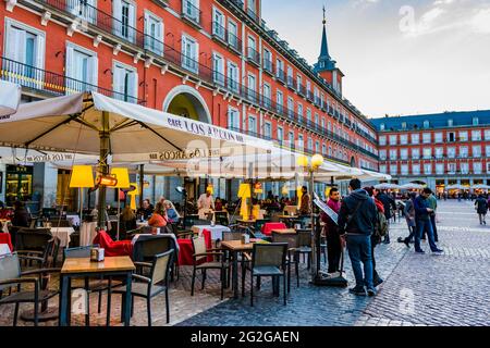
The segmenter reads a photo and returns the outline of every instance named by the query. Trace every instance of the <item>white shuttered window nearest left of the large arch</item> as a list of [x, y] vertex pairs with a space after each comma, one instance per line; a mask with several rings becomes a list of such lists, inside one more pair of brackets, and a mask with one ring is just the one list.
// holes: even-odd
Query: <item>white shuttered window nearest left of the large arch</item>
[[137, 102], [138, 74], [136, 67], [114, 62], [112, 78], [115, 99]]

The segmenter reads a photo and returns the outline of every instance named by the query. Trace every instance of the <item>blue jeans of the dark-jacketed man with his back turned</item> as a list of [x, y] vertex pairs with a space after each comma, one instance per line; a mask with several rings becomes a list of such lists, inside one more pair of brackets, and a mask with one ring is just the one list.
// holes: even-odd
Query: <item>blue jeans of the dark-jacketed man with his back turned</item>
[[[373, 288], [372, 286], [372, 257], [371, 257], [371, 237], [368, 235], [347, 234], [347, 250], [351, 258], [352, 270], [356, 277], [356, 288]], [[360, 262], [364, 264], [364, 276]]]

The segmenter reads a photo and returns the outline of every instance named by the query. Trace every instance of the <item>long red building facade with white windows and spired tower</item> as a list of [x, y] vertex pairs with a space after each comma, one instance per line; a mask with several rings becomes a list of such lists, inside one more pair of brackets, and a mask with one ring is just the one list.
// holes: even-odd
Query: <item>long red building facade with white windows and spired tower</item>
[[[0, 78], [24, 100], [97, 90], [378, 170], [375, 127], [247, 0], [5, 0]], [[326, 53], [327, 52], [327, 57]]]

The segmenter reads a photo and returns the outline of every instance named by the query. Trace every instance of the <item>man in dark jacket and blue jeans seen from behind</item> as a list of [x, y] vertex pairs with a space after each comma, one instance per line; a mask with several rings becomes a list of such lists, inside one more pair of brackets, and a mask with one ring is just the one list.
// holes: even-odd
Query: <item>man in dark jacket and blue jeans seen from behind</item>
[[[359, 179], [348, 184], [351, 195], [346, 197], [339, 212], [339, 233], [346, 238], [348, 257], [356, 278], [356, 286], [350, 291], [355, 295], [376, 295], [372, 284], [371, 235], [375, 233], [377, 213], [375, 201], [360, 189]], [[346, 235], [346, 237], [345, 237]], [[364, 264], [364, 276], [360, 262]]]

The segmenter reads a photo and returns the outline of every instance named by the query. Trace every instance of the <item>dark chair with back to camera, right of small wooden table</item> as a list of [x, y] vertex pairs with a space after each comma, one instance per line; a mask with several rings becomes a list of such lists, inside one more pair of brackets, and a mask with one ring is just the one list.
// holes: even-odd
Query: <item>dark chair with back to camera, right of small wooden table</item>
[[[287, 243], [254, 244], [250, 269], [250, 306], [254, 307], [254, 277], [283, 278], [284, 306], [286, 304]], [[274, 282], [272, 282], [274, 284]], [[273, 286], [274, 287], [274, 286]], [[275, 293], [275, 291], [274, 291]]]

